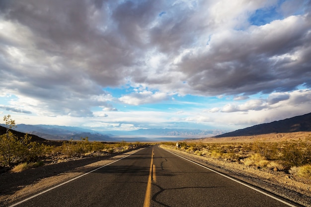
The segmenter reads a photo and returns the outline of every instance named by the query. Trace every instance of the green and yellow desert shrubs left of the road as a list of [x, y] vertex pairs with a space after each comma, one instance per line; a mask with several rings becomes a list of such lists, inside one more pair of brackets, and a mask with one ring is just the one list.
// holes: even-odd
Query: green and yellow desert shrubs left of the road
[[16, 126], [10, 115], [4, 116], [3, 121], [6, 125], [6, 133], [0, 135], [0, 168], [11, 169], [11, 172], [20, 172], [70, 159], [105, 156], [144, 145], [140, 142], [89, 141], [87, 137], [80, 140], [39, 143], [32, 141], [27, 134], [24, 137], [14, 135], [12, 130]]

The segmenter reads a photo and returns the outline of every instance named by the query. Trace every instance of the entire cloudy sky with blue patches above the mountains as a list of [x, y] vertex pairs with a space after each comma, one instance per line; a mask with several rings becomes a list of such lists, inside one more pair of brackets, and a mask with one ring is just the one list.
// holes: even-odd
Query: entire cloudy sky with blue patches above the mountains
[[236, 130], [303, 115], [311, 1], [0, 0], [0, 77], [16, 124]]

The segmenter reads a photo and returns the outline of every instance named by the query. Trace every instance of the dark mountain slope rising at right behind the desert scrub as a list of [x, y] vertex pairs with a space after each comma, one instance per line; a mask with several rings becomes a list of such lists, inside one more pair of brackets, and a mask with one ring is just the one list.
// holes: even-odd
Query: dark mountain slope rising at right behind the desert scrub
[[311, 113], [281, 121], [255, 125], [215, 137], [224, 138], [290, 132], [311, 132]]

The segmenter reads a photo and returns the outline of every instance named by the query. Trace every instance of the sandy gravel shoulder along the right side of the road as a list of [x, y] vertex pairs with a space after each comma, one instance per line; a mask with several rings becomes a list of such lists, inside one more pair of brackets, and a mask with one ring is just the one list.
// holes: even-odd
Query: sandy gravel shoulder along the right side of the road
[[290, 203], [294, 202], [296, 205], [311, 207], [311, 181], [296, 180], [284, 172], [267, 171], [235, 162], [198, 156], [175, 149], [175, 147], [161, 147], [239, 181], [250, 184], [255, 188], [264, 190], [273, 196], [285, 198]]

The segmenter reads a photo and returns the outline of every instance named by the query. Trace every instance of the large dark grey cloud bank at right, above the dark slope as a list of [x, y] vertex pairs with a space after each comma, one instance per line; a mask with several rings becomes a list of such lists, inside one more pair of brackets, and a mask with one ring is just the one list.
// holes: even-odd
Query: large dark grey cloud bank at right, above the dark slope
[[310, 20], [289, 17], [283, 23], [215, 34], [207, 49], [188, 54], [178, 65], [201, 93], [269, 93], [310, 85]]

